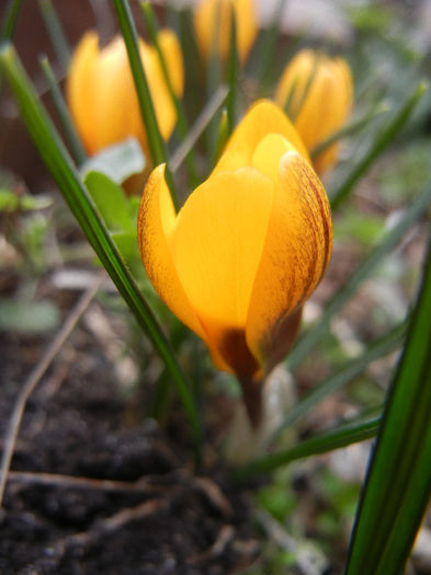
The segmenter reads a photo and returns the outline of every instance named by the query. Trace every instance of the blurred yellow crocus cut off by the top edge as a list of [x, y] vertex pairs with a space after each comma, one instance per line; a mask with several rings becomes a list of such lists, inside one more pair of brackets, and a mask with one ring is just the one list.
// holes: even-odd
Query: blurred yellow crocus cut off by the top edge
[[238, 56], [242, 64], [246, 61], [258, 34], [258, 19], [252, 0], [202, 0], [196, 4], [194, 27], [205, 58], [211, 57], [215, 46], [220, 58], [227, 59], [232, 9], [237, 22]]

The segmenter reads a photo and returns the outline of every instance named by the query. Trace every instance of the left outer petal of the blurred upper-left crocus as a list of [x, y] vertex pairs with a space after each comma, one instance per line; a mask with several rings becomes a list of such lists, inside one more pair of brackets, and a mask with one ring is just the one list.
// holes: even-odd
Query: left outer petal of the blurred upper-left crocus
[[89, 150], [94, 149], [93, 81], [98, 55], [99, 37], [95, 32], [87, 32], [71, 58], [66, 84], [73, 122]]

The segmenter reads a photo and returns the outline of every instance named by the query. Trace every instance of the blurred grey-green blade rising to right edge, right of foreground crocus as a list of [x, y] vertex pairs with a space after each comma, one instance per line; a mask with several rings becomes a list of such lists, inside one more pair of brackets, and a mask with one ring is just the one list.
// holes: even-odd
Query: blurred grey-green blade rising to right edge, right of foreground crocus
[[299, 337], [295, 347], [287, 357], [290, 369], [295, 369], [317, 345], [329, 329], [330, 319], [341, 310], [354, 294], [358, 286], [376, 268], [379, 262], [404, 238], [411, 226], [427, 210], [431, 203], [431, 187], [422, 192], [406, 210], [402, 219], [393, 228], [381, 243], [362, 261], [350, 278], [337, 291], [333, 299], [326, 304], [325, 311], [318, 322]]

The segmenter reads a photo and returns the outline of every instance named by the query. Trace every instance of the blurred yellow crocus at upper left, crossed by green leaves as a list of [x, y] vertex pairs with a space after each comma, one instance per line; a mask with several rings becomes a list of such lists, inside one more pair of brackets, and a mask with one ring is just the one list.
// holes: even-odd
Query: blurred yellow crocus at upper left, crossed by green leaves
[[[178, 95], [183, 91], [183, 64], [179, 42], [168, 30], [159, 33], [168, 71]], [[139, 39], [161, 135], [171, 135], [177, 114], [156, 49]], [[148, 152], [147, 138], [135, 92], [127, 51], [121, 36], [99, 47], [95, 32], [79, 43], [67, 79], [67, 100], [78, 131], [90, 154], [134, 136]], [[148, 158], [148, 153], [146, 153]]]

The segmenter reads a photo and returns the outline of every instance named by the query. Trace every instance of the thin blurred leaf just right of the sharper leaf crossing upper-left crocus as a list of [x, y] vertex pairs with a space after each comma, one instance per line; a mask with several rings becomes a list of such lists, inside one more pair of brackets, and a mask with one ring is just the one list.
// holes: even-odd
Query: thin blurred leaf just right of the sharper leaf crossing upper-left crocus
[[[157, 50], [157, 55], [158, 55], [159, 60], [160, 60], [160, 66], [161, 66], [162, 72], [163, 72], [165, 81], [166, 81], [168, 90], [169, 90], [169, 94], [170, 94], [172, 103], [173, 103], [173, 105], [175, 107], [178, 131], [179, 131], [181, 141], [184, 141], [185, 138], [189, 135], [189, 131], [190, 131], [189, 123], [188, 123], [188, 119], [185, 117], [185, 112], [183, 110], [181, 101], [177, 96], [175, 91], [173, 90], [171, 77], [169, 76], [168, 67], [166, 65], [165, 57], [163, 57], [163, 53], [161, 51], [161, 48], [160, 48], [160, 44], [159, 44], [159, 39], [158, 39], [158, 31], [159, 30], [158, 30], [157, 18], [156, 18], [155, 11], [154, 11], [154, 9], [152, 9], [152, 7], [151, 7], [151, 4], [149, 3], [148, 0], [141, 1], [140, 2], [140, 7], [143, 9], [143, 14], [144, 14], [145, 24], [147, 26], [147, 31], [149, 33], [149, 36], [151, 38], [151, 42], [152, 42], [152, 44], [154, 44], [154, 46], [155, 46], [155, 48]], [[185, 164], [186, 164], [188, 171], [189, 171], [189, 183], [190, 183], [192, 188], [196, 187], [196, 185], [200, 182], [200, 177], [199, 177], [199, 173], [197, 173], [196, 158], [195, 158], [193, 148], [190, 148], [188, 154], [185, 156]]]

